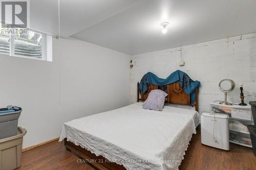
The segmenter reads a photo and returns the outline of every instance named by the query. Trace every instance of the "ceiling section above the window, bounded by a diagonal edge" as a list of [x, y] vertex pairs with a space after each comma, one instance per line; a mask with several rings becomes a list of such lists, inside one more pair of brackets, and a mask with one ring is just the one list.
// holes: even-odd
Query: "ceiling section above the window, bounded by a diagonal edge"
[[[145, 0], [30, 0], [30, 28], [69, 37]], [[60, 14], [60, 22], [58, 21]]]

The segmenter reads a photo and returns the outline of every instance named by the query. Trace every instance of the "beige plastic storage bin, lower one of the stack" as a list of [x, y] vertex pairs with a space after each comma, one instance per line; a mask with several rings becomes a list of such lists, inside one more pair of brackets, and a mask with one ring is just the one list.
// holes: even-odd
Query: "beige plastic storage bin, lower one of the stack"
[[0, 139], [0, 170], [15, 169], [22, 164], [22, 142], [27, 130], [18, 127], [16, 135]]

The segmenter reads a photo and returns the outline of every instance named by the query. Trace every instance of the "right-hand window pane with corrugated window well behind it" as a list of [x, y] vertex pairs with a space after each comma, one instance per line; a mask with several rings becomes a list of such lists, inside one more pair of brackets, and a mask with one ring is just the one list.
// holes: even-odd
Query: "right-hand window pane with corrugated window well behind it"
[[42, 34], [28, 31], [14, 35], [14, 55], [42, 58]]

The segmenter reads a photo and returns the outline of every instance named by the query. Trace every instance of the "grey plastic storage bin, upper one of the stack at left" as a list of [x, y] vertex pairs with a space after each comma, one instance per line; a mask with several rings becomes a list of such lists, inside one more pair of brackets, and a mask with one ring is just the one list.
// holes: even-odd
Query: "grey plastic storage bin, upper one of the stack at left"
[[19, 111], [0, 114], [0, 139], [17, 134], [18, 118], [21, 112], [22, 108]]

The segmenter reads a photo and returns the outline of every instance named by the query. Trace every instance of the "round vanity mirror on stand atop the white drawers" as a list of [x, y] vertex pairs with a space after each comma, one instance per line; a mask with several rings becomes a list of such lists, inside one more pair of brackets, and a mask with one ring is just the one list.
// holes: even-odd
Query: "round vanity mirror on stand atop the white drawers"
[[220, 104], [223, 105], [232, 105], [230, 103], [227, 102], [227, 93], [231, 92], [234, 90], [234, 87], [236, 87], [236, 84], [234, 83], [233, 80], [230, 79], [224, 79], [222, 81], [220, 81], [219, 83], [219, 88], [221, 91], [223, 91], [225, 93], [225, 99], [224, 102], [221, 102]]

